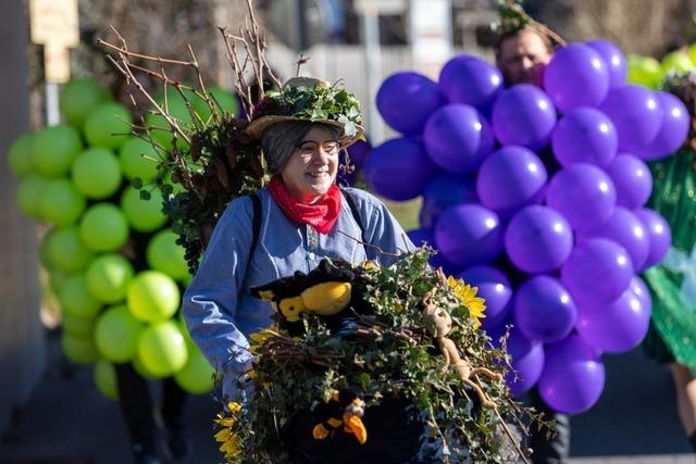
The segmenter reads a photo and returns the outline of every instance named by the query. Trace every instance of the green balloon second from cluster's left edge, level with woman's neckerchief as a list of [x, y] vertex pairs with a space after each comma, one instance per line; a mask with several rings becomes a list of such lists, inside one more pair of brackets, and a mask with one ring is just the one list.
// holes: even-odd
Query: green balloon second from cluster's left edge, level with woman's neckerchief
[[50, 179], [41, 191], [41, 217], [58, 227], [75, 224], [85, 210], [85, 197], [65, 177]]

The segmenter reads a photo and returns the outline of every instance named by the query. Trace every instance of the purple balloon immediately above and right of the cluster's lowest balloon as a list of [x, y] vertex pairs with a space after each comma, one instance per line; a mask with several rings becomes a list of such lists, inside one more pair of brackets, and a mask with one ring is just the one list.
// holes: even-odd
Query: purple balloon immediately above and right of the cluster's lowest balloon
[[575, 327], [596, 350], [623, 353], [641, 343], [649, 323], [650, 305], [629, 287], [608, 304], [581, 304]]

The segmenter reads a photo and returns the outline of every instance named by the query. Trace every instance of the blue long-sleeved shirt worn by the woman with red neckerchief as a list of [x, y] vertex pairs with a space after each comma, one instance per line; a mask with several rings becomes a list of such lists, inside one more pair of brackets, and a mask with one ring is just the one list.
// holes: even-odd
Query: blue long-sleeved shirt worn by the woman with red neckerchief
[[[369, 243], [387, 253], [414, 249], [384, 203], [363, 190], [346, 190], [360, 212]], [[237, 380], [252, 359], [246, 336], [270, 325], [273, 313], [268, 301], [251, 297], [251, 287], [295, 271], [308, 273], [322, 258], [352, 263], [370, 259], [382, 265], [395, 260], [358, 241], [360, 226], [345, 199], [334, 228], [321, 235], [311, 226], [298, 226], [288, 220], [268, 189], [260, 190], [259, 196], [262, 220], [253, 255], [249, 256], [253, 209], [251, 199], [243, 197], [232, 201], [217, 222], [184, 294], [188, 330], [211, 365], [223, 374], [223, 396], [231, 399], [238, 398]]]

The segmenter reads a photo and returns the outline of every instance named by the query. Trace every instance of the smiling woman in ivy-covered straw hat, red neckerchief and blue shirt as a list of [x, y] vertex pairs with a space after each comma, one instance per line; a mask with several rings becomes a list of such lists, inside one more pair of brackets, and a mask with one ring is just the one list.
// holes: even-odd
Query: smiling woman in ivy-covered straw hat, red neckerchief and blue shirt
[[[261, 142], [271, 181], [252, 198], [229, 203], [184, 297], [188, 329], [222, 373], [227, 400], [253, 401], [254, 384], [248, 381], [254, 359], [249, 335], [272, 324], [274, 308], [286, 316], [291, 310], [291, 318], [300, 308], [291, 298], [272, 306], [254, 298], [252, 288], [311, 273], [323, 259], [389, 265], [399, 252], [414, 248], [378, 199], [336, 185], [340, 150], [362, 135], [359, 108], [346, 90], [320, 79], [294, 78], [279, 92], [266, 93], [252, 111], [246, 134]], [[399, 403], [389, 416], [405, 415], [405, 407]], [[394, 455], [389, 462], [405, 462], [403, 456], [418, 451], [421, 430], [411, 431], [375, 430], [371, 442], [388, 442]], [[285, 441], [290, 462], [304, 462], [296, 457], [318, 446], [311, 434]], [[324, 451], [332, 443], [323, 443]], [[339, 452], [315, 462], [349, 459], [338, 456]]]

